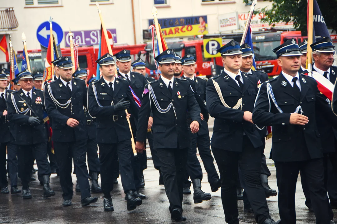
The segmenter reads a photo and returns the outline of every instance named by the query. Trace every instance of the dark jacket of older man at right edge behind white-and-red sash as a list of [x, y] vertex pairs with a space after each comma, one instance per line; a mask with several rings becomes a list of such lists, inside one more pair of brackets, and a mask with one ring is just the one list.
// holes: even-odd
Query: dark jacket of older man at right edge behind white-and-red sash
[[[315, 71], [315, 69], [312, 68], [312, 71]], [[337, 75], [337, 67], [331, 66], [329, 78], [330, 82], [333, 84], [335, 84], [336, 75]], [[324, 94], [319, 94], [316, 100], [319, 101], [322, 104], [322, 106], [331, 108], [331, 101]], [[337, 147], [336, 145], [337, 130], [336, 128], [333, 127], [332, 119], [334, 120], [337, 119], [336, 116], [333, 116], [332, 111], [317, 110], [316, 112], [317, 127], [321, 136], [324, 153], [335, 152]]]

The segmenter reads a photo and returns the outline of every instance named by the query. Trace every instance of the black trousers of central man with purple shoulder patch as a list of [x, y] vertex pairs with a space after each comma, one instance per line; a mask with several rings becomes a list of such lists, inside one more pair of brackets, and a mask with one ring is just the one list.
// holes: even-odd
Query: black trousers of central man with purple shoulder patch
[[166, 196], [173, 209], [183, 211], [183, 171], [186, 170], [188, 148], [159, 148], [158, 157], [161, 163]]

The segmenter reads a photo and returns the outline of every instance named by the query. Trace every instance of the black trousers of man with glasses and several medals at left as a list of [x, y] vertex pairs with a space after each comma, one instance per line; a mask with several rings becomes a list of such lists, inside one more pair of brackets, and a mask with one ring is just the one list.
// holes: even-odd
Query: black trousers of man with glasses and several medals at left
[[18, 145], [18, 164], [21, 173], [22, 187], [28, 187], [28, 181], [31, 176], [31, 158], [35, 158], [38, 173], [40, 176], [50, 176], [50, 166], [47, 158], [47, 142]]

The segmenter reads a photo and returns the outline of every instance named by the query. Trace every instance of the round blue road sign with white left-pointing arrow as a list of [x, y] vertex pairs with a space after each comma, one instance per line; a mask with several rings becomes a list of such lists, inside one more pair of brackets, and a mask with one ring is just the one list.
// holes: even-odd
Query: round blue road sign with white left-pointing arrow
[[[63, 31], [60, 25], [52, 21], [53, 23], [53, 35], [55, 38], [56, 45], [60, 45], [62, 39], [63, 39]], [[39, 43], [43, 47], [48, 47], [49, 39], [50, 39], [50, 24], [49, 21], [43, 22], [36, 31], [36, 37]]]

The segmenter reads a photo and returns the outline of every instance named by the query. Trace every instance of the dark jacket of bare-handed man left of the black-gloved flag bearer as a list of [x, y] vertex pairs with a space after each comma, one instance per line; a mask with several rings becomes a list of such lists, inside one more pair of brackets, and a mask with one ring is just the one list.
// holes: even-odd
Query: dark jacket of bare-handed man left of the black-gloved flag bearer
[[[53, 120], [53, 141], [72, 142], [87, 139], [86, 118], [83, 109], [83, 106], [87, 105], [87, 86], [84, 80], [73, 78], [71, 87], [70, 94], [59, 78], [49, 83], [44, 89], [45, 107], [48, 116]], [[49, 88], [51, 88], [51, 93]], [[60, 104], [65, 104], [69, 99], [71, 99], [71, 105], [67, 108], [61, 108], [54, 102], [57, 100]], [[69, 127], [67, 125], [69, 118], [76, 119], [80, 124], [75, 128]]]

